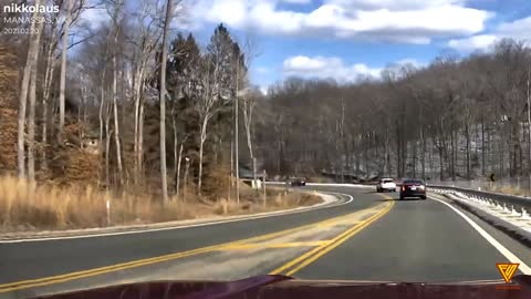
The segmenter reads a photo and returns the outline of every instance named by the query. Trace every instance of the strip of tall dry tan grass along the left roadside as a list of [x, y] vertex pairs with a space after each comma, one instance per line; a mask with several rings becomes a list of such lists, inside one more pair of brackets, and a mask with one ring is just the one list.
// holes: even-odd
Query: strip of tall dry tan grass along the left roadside
[[259, 213], [305, 206], [321, 200], [308, 194], [269, 190], [268, 203], [263, 206], [263, 200], [246, 199], [251, 196], [246, 194], [249, 192], [254, 195], [252, 190], [243, 190], [240, 204], [226, 199], [205, 204], [206, 200], [198, 200], [190, 192], [186, 203], [173, 198], [169, 205], [163, 206], [158, 197], [149, 195], [110, 195], [90, 186], [35, 186], [14, 177], [0, 177], [0, 229], [20, 231], [105, 227], [107, 198], [111, 199], [111, 225]]

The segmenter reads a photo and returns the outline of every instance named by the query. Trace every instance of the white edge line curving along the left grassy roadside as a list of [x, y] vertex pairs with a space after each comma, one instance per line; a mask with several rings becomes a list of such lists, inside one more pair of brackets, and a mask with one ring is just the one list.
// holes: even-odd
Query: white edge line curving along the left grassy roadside
[[[317, 193], [319, 193], [319, 192], [317, 192]], [[228, 223], [254, 220], [254, 219], [261, 219], [261, 218], [268, 218], [268, 217], [284, 216], [284, 215], [291, 215], [291, 214], [298, 214], [298, 213], [317, 210], [317, 209], [323, 209], [323, 208], [332, 208], [332, 207], [337, 207], [337, 206], [343, 206], [343, 205], [350, 204], [350, 203], [352, 203], [352, 200], [354, 200], [354, 197], [353, 197], [352, 195], [350, 195], [350, 194], [335, 193], [335, 192], [322, 192], [322, 194], [343, 195], [343, 196], [346, 196], [346, 197], [350, 197], [350, 198], [348, 198], [348, 200], [346, 200], [346, 202], [344, 202], [344, 203], [340, 203], [340, 204], [331, 203], [331, 204], [317, 206], [317, 207], [314, 207], [314, 208], [309, 207], [309, 208], [299, 208], [299, 209], [284, 210], [284, 212], [280, 210], [280, 212], [268, 213], [268, 215], [257, 214], [257, 215], [254, 215], [254, 216], [236, 218], [236, 219], [216, 220], [216, 221], [209, 221], [209, 223], [200, 223], [200, 224], [192, 224], [192, 225], [181, 225], [181, 226], [174, 226], [174, 227], [147, 228], [147, 229], [139, 229], [139, 230], [131, 230], [131, 231], [115, 231], [115, 233], [102, 233], [102, 234], [62, 236], [62, 237], [42, 237], [42, 238], [27, 238], [27, 239], [0, 240], [0, 244], [28, 243], [28, 241], [46, 241], [46, 240], [64, 240], [64, 239], [83, 239], [83, 238], [96, 238], [96, 237], [121, 236], [121, 235], [131, 235], [131, 234], [146, 234], [146, 233], [153, 233], [153, 231], [174, 230], [174, 229], [177, 230], [177, 229], [184, 229], [184, 228], [190, 228], [190, 227], [200, 227], [200, 226], [209, 226], [209, 225], [218, 225], [218, 224], [228, 224]]]

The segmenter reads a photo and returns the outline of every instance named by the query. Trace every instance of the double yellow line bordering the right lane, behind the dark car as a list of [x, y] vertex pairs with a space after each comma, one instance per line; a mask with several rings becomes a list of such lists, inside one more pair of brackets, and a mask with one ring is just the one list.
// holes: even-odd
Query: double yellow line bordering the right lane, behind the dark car
[[[385, 197], [387, 197], [387, 196], [385, 196]], [[387, 198], [391, 199], [391, 197], [387, 197]], [[393, 205], [394, 205], [394, 200], [392, 200], [391, 204], [387, 204], [387, 206], [384, 207], [382, 210], [379, 210], [377, 214], [371, 216], [367, 220], [355, 225], [354, 227], [347, 229], [346, 231], [343, 231], [342, 234], [340, 234], [339, 236], [333, 238], [331, 243], [329, 243], [326, 245], [322, 245], [317, 248], [314, 248], [313, 250], [310, 250], [310, 251], [305, 252], [304, 255], [302, 255], [302, 256], [282, 265], [282, 266], [280, 266], [279, 268], [274, 269], [270, 274], [271, 275], [277, 275], [277, 274], [285, 272], [288, 276], [293, 275], [294, 272], [299, 271], [303, 267], [310, 265], [312, 261], [316, 260], [319, 257], [321, 257], [321, 256], [325, 255], [326, 252], [329, 252], [330, 250], [336, 248], [342, 243], [346, 241], [348, 238], [351, 238], [352, 236], [354, 236], [355, 234], [361, 231], [363, 228], [367, 227], [372, 223], [374, 223], [377, 219], [379, 219], [381, 217], [383, 217], [385, 214], [387, 214], [391, 210]], [[294, 268], [292, 268], [292, 267], [294, 267]], [[292, 268], [292, 269], [289, 270], [290, 268]]]

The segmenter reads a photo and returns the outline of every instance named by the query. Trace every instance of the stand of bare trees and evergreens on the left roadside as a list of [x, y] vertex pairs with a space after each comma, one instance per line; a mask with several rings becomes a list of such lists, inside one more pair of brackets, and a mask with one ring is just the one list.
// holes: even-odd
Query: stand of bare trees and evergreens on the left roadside
[[[145, 192], [165, 203], [185, 185], [199, 198], [229, 196], [235, 117], [243, 112], [237, 102], [246, 107], [258, 96], [248, 81], [251, 48], [222, 24], [206, 45], [179, 33], [171, 25], [186, 12], [179, 0], [135, 9], [124, 0], [48, 2], [60, 12], [28, 24], [39, 34], [1, 40], [28, 50], [20, 60], [0, 52], [2, 173]], [[106, 11], [106, 21], [84, 22], [93, 9]], [[241, 151], [252, 146], [248, 125]]]

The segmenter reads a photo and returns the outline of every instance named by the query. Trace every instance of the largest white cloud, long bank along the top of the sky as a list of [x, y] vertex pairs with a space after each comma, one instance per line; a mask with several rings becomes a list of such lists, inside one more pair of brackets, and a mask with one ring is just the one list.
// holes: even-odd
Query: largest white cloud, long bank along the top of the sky
[[198, 0], [190, 12], [199, 22], [223, 22], [267, 34], [406, 43], [475, 34], [483, 30], [485, 21], [492, 16], [464, 7], [464, 0], [325, 0], [310, 12], [282, 10], [279, 1], [308, 0]]

